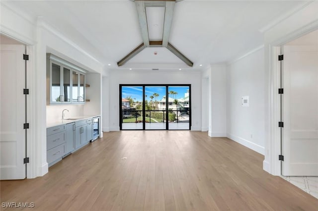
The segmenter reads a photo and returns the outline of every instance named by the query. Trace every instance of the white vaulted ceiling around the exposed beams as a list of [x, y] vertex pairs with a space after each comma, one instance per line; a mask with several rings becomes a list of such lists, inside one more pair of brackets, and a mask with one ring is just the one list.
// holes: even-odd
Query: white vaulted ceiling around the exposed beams
[[[304, 1], [182, 0], [174, 6], [169, 43], [199, 64], [226, 62], [263, 44], [260, 29]], [[10, 1], [51, 26], [104, 64], [117, 62], [143, 41], [131, 0]], [[156, 18], [155, 18], [156, 22]], [[160, 25], [161, 23], [159, 23]], [[158, 52], [154, 55], [154, 52]], [[187, 67], [164, 48], [146, 48], [120, 68]]]

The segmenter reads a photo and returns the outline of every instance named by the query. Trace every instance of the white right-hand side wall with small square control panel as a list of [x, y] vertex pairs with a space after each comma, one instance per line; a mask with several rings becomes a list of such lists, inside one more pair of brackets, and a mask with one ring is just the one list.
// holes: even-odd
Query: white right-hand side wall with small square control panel
[[[264, 155], [264, 49], [227, 67], [227, 137]], [[241, 105], [249, 96], [249, 107]]]

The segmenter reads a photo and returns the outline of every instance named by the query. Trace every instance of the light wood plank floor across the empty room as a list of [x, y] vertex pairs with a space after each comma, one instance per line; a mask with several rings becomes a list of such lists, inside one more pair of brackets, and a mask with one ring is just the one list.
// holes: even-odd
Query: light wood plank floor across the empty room
[[263, 171], [262, 161], [205, 132], [109, 132], [43, 177], [1, 181], [1, 202], [39, 211], [318, 210], [316, 198]]

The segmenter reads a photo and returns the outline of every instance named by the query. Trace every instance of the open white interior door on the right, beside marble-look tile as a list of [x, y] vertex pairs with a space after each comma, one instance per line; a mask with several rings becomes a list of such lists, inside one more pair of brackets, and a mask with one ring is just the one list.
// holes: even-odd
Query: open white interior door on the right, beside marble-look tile
[[282, 174], [318, 176], [318, 49], [284, 46]]

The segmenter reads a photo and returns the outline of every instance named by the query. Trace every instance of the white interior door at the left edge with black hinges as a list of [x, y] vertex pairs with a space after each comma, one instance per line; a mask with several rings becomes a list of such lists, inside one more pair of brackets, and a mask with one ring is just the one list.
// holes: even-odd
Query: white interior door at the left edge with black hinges
[[25, 66], [23, 45], [1, 45], [0, 179], [24, 179]]

